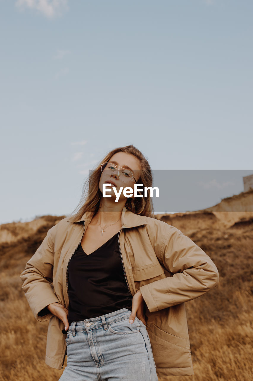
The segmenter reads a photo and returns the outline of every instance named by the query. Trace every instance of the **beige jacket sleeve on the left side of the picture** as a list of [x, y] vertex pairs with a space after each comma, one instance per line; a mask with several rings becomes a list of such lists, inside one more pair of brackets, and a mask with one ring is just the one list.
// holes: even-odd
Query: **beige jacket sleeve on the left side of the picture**
[[53, 290], [54, 236], [57, 227], [53, 226], [29, 259], [25, 270], [20, 275], [22, 289], [36, 320], [41, 322], [52, 317], [46, 308], [48, 304], [59, 303]]

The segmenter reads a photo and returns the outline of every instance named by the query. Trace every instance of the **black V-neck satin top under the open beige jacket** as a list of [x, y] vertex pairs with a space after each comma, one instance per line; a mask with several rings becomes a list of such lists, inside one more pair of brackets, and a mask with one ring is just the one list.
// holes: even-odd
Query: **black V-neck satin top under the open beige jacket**
[[93, 253], [81, 243], [68, 265], [68, 321], [79, 322], [122, 308], [132, 309], [116, 233]]

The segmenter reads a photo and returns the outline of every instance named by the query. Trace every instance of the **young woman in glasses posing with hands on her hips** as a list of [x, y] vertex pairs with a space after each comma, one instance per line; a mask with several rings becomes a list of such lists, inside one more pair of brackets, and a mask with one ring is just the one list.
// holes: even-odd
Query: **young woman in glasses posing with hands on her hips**
[[77, 212], [49, 229], [21, 274], [35, 318], [50, 318], [46, 363], [62, 369], [68, 356], [60, 381], [193, 374], [184, 302], [217, 285], [218, 271], [181, 231], [152, 218], [150, 194], [103, 197], [103, 184], [119, 193], [135, 183], [153, 186], [142, 153], [109, 152]]

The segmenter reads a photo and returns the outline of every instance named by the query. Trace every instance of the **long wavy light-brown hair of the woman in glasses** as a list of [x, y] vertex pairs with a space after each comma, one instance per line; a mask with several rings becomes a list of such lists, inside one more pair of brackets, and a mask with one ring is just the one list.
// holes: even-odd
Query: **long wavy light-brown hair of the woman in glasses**
[[[101, 163], [110, 162], [111, 157], [118, 152], [125, 152], [135, 156], [140, 163], [141, 171], [138, 183], [144, 187], [153, 187], [153, 175], [149, 162], [144, 155], [132, 144], [130, 146], [119, 147], [111, 150], [101, 161]], [[82, 197], [76, 209], [71, 214], [71, 221], [78, 221], [85, 212], [98, 212], [100, 207], [102, 193], [99, 189], [99, 181], [101, 176], [101, 164], [91, 171], [87, 180], [84, 183]], [[154, 216], [153, 202], [148, 191], [148, 197], [128, 198], [125, 204], [126, 209], [131, 212], [147, 217]]]

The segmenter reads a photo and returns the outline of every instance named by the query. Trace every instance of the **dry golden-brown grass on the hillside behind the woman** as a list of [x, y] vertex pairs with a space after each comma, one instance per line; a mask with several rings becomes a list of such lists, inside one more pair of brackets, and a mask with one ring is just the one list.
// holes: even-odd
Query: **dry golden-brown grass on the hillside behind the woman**
[[[44, 362], [47, 322], [34, 319], [19, 278], [57, 219], [47, 218], [30, 237], [1, 245], [0, 381], [57, 381], [62, 374]], [[193, 231], [189, 225], [188, 230], [187, 226], [181, 230], [213, 259], [220, 283], [186, 303], [194, 376], [171, 377], [171, 381], [252, 381], [253, 224], [210, 229], [206, 219], [201, 229]]]

